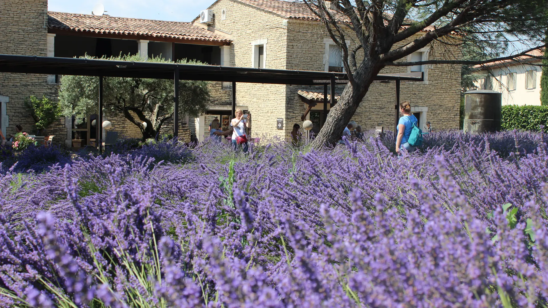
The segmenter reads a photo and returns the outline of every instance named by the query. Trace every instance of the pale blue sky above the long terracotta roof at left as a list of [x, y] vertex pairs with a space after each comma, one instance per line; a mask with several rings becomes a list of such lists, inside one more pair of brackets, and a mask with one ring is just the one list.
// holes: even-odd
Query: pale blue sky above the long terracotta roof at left
[[214, 0], [48, 0], [48, 10], [91, 14], [95, 4], [105, 5], [105, 14], [116, 17], [192, 21]]

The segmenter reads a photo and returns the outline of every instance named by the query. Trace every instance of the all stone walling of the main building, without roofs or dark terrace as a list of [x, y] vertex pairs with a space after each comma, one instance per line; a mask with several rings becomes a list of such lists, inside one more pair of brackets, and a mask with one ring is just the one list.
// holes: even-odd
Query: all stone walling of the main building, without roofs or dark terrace
[[[214, 32], [217, 36], [229, 38], [230, 46], [222, 45], [222, 48], [218, 49], [221, 53], [221, 65], [265, 67], [267, 69], [327, 70], [329, 60], [327, 50], [330, 39], [321, 23], [286, 18], [280, 14], [269, 12], [269, 10], [260, 9], [245, 0], [219, 0], [213, 3], [209, 9], [213, 10], [213, 23], [206, 26], [194, 21], [194, 24]], [[225, 18], [221, 18], [222, 10], [226, 12]], [[0, 53], [53, 55], [52, 42], [55, 41], [55, 34], [48, 35], [44, 14], [47, 14], [47, 1], [45, 0], [0, 2], [0, 25], [7, 31], [7, 35], [0, 38], [2, 48]], [[48, 50], [48, 39], [52, 41], [49, 44], [49, 49], [52, 50]], [[412, 39], [414, 37], [409, 41]], [[144, 44], [142, 43], [144, 41], [140, 42], [139, 46]], [[199, 46], [199, 43], [191, 44], [195, 44], [188, 45], [194, 46], [192, 48]], [[352, 35], [348, 36], [347, 44], [350, 48], [355, 46]], [[154, 46], [152, 44], [150, 48]], [[258, 61], [259, 46], [262, 47], [264, 53], [260, 58], [264, 59], [262, 62]], [[460, 58], [457, 48], [448, 48], [439, 43], [432, 44], [423, 51], [428, 59]], [[359, 58], [358, 54], [358, 63]], [[401, 100], [409, 100], [412, 103], [413, 112], [418, 112], [417, 115], [420, 114], [421, 124], [430, 121], [435, 129], [458, 128], [460, 66], [423, 66], [422, 70], [425, 72], [427, 81], [403, 82]], [[382, 72], [407, 71], [409, 71], [407, 67], [387, 67]], [[30, 113], [23, 105], [24, 98], [29, 95], [39, 97], [46, 95], [56, 99], [58, 84], [48, 83], [48, 76], [45, 75], [0, 74], [0, 77], [2, 77], [0, 80], [0, 101], [6, 101], [2, 103], [2, 111], [5, 112], [5, 115], [2, 116], [1, 126], [4, 127], [7, 123], [5, 120], [9, 118], [9, 125], [5, 129], [8, 133], [13, 133], [15, 124], [22, 124], [25, 130], [30, 131], [33, 122]], [[52, 82], [52, 80], [54, 79], [50, 76], [49, 81]], [[228, 83], [223, 85], [220, 82], [210, 83], [209, 106], [211, 110], [207, 112], [207, 115], [196, 119], [191, 118], [185, 126], [181, 126], [179, 135], [182, 140], [190, 141], [191, 134], [202, 140], [208, 136], [207, 126], [212, 116], [225, 115], [227, 110], [230, 110], [232, 90], [229, 85]], [[299, 123], [302, 126], [301, 115], [305, 111], [305, 103], [297, 93], [299, 89], [323, 92], [323, 86], [237, 83], [236, 104], [245, 106], [245, 109], [252, 113], [253, 137], [288, 139], [294, 123]], [[343, 89], [344, 85], [339, 85], [336, 92], [340, 93]], [[379, 125], [386, 129], [393, 129], [395, 92], [395, 83], [372, 84], [353, 116], [353, 120], [362, 124], [366, 129]], [[318, 104], [307, 118], [317, 117], [321, 112], [322, 104]], [[112, 130], [117, 131], [121, 138], [141, 137], [139, 129], [125, 119], [122, 114], [107, 112], [105, 118], [112, 122]], [[278, 118], [284, 120], [281, 130], [276, 128]], [[70, 144], [70, 129], [68, 131], [67, 134], [64, 118], [60, 118], [59, 122], [55, 123], [45, 134], [59, 136], [54, 139], [58, 144], [64, 144], [65, 140], [67, 144]], [[165, 122], [161, 133], [172, 132], [173, 121]]]

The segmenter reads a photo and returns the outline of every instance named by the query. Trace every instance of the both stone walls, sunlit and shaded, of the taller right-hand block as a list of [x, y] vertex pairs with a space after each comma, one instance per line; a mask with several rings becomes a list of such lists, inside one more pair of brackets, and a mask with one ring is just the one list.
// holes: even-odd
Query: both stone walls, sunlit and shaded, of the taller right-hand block
[[[283, 18], [237, 0], [219, 0], [209, 9], [214, 14], [214, 22], [210, 26], [230, 33], [232, 37], [231, 65], [256, 67], [253, 62], [254, 44], [262, 44], [267, 69], [326, 70], [326, 42], [330, 39], [319, 22]], [[226, 10], [225, 20], [220, 18], [223, 9]], [[350, 48], [355, 46], [351, 35], [347, 44]], [[448, 48], [440, 43], [432, 44], [424, 51], [428, 59], [459, 59], [461, 56], [458, 48]], [[436, 129], [458, 128], [460, 66], [423, 66], [423, 70], [427, 81], [402, 82], [401, 100], [411, 102], [412, 111], [420, 114], [421, 124], [430, 121]], [[381, 73], [408, 71], [407, 67], [387, 67]], [[277, 135], [288, 139], [294, 123], [302, 126], [301, 115], [305, 104], [297, 94], [298, 89], [323, 92], [323, 86], [237, 84], [236, 101], [238, 105], [249, 106], [249, 112], [253, 115], [254, 137]], [[339, 85], [336, 92], [340, 93], [343, 89], [344, 86]], [[395, 101], [395, 83], [374, 83], [352, 119], [366, 129], [379, 125], [393, 129]], [[317, 111], [321, 109], [321, 104], [313, 108]], [[284, 119], [283, 130], [276, 129], [277, 118]]]

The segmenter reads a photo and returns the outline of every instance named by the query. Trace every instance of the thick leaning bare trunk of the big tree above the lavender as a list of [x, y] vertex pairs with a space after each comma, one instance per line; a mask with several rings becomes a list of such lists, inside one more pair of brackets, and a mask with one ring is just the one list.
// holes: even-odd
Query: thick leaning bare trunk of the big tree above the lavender
[[326, 123], [323, 124], [312, 146], [316, 149], [325, 145], [334, 145], [341, 139], [343, 130], [356, 113], [359, 103], [366, 96], [369, 86], [381, 70], [372, 59], [364, 60], [353, 73], [355, 84], [346, 85], [341, 98], [327, 114]]

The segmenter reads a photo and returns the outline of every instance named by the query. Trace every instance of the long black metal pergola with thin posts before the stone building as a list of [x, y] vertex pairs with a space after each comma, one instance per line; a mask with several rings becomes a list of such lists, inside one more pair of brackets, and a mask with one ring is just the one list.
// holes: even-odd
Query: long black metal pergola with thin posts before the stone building
[[[250, 67], [192, 65], [162, 62], [135, 62], [84, 58], [55, 58], [46, 56], [0, 54], [0, 72], [44, 75], [76, 75], [99, 77], [98, 145], [102, 145], [102, 80], [103, 77], [156, 78], [174, 81], [174, 131], [179, 133], [179, 80], [232, 82], [232, 115], [236, 109], [236, 83], [267, 83], [292, 85], [324, 85], [324, 117], [327, 116], [327, 86], [330, 84], [333, 106], [335, 85], [347, 83], [346, 73], [255, 69]], [[423, 81], [423, 73], [379, 74], [376, 81], [396, 81], [396, 125], [401, 81]]]

